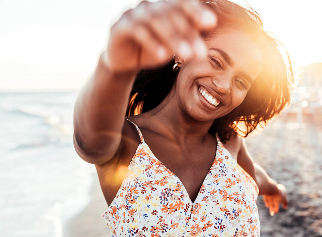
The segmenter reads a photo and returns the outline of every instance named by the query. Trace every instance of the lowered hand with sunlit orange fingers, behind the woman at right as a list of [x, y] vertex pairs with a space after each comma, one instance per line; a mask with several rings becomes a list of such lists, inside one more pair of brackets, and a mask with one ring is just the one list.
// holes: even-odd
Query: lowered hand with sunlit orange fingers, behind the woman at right
[[273, 216], [274, 213], [279, 212], [279, 203], [283, 205], [283, 208], [287, 208], [287, 197], [286, 197], [286, 188], [283, 184], [276, 185], [276, 193], [271, 195], [263, 195], [263, 200], [265, 206], [269, 208], [270, 215]]

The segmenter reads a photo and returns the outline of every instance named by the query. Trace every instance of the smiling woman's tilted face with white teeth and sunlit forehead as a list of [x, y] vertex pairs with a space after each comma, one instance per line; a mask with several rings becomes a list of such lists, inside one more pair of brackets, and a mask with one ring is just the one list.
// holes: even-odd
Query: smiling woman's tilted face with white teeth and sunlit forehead
[[263, 66], [250, 36], [236, 30], [205, 41], [206, 57], [184, 60], [176, 80], [180, 110], [196, 121], [210, 121], [242, 103]]

